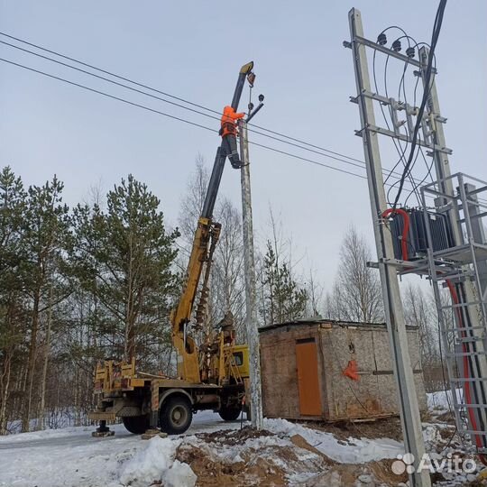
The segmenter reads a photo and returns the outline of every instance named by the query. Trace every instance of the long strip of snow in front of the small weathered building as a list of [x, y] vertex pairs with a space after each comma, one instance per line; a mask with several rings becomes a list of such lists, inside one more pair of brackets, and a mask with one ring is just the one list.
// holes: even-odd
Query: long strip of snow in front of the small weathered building
[[264, 419], [264, 428], [278, 435], [303, 436], [309, 445], [342, 464], [363, 464], [382, 458], [396, 458], [397, 455], [404, 454], [402, 443], [391, 438], [350, 437], [343, 442], [331, 433], [290, 423], [286, 419]]

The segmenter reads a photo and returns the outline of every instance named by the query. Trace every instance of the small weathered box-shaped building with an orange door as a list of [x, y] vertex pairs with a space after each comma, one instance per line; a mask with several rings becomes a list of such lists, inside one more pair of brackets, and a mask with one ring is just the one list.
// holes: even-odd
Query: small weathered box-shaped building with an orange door
[[[418, 329], [407, 327], [419, 409]], [[313, 319], [260, 329], [263, 414], [337, 421], [399, 414], [385, 324]]]

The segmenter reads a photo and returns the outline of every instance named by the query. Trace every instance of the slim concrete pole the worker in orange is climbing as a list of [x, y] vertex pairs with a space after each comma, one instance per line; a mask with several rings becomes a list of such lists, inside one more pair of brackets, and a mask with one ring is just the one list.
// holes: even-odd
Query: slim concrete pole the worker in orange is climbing
[[245, 325], [250, 354], [251, 417], [252, 426], [256, 429], [262, 429], [261, 355], [259, 352], [259, 330], [257, 326], [249, 143], [247, 137], [247, 123], [241, 121], [240, 159], [243, 162], [243, 167], [240, 174], [242, 182], [243, 264], [245, 268]]

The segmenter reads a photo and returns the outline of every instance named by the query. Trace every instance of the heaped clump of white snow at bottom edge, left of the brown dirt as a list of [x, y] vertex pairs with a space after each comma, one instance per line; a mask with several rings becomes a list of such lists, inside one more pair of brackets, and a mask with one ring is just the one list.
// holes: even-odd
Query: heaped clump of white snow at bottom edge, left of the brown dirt
[[181, 441], [154, 436], [124, 464], [120, 482], [132, 487], [146, 487], [154, 481], [163, 481], [168, 487], [194, 487], [197, 477], [191, 467], [174, 461]]

